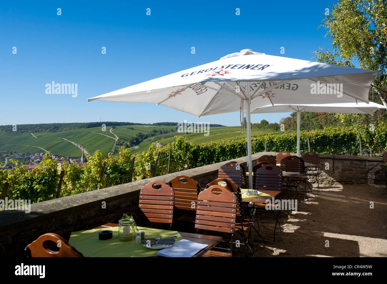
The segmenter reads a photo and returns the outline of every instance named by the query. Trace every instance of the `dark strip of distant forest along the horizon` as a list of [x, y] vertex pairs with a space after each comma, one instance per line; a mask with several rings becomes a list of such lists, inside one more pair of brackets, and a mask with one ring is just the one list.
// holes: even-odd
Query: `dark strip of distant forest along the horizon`
[[[73, 123], [41, 123], [41, 124], [17, 124], [16, 131], [13, 131], [12, 125], [1, 125], [0, 133], [39, 133], [39, 132], [62, 132], [81, 128], [106, 126], [123, 126], [123, 125], [147, 125], [147, 126], [177, 126], [178, 122], [156, 122], [156, 123], [135, 123], [135, 122], [73, 122]], [[221, 127], [221, 124], [210, 124], [212, 127]]]

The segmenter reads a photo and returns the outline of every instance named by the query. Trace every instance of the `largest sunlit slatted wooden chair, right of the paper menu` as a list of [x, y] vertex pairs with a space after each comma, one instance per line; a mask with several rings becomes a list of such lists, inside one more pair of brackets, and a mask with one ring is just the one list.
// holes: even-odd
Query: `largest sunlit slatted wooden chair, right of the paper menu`
[[237, 202], [237, 196], [221, 185], [212, 185], [203, 190], [197, 199], [197, 233], [199, 230], [209, 230], [230, 236], [230, 247], [221, 248], [230, 256], [233, 252]]

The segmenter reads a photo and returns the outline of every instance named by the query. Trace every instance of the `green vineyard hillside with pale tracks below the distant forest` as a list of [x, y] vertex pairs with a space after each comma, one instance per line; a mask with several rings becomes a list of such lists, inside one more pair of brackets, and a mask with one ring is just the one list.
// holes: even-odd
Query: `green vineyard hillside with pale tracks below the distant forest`
[[[150, 138], [144, 139], [138, 146], [138, 149], [131, 148], [132, 153], [139, 153], [147, 150], [149, 146], [158, 141], [161, 145], [166, 145], [175, 141], [175, 136], [186, 136], [190, 141], [201, 144], [209, 141], [226, 141], [229, 139], [244, 139], [245, 134], [241, 133], [241, 127], [223, 126], [211, 127], [209, 136], [204, 136], [204, 133], [178, 133], [176, 125], [173, 126], [154, 126], [154, 125], [127, 125], [115, 126], [113, 133], [118, 136], [116, 150], [120, 145], [126, 145], [128, 141], [138, 136], [138, 134], [157, 134]], [[22, 153], [41, 153], [50, 151], [55, 155], [61, 156], [81, 156], [82, 150], [69, 141], [83, 146], [91, 155], [96, 150], [100, 150], [104, 154], [108, 154], [115, 143], [115, 136], [110, 133], [111, 126], [107, 126], [105, 131], [101, 127], [80, 128], [62, 132], [41, 132], [41, 133], [0, 133], [0, 150], [14, 151]], [[160, 131], [166, 130], [174, 132], [158, 134]], [[260, 135], [260, 131], [252, 131], [252, 136]], [[67, 139], [68, 141], [64, 140]], [[40, 147], [40, 148], [38, 148]], [[136, 147], [137, 148], [137, 147]], [[116, 154], [116, 151], [114, 151]]]

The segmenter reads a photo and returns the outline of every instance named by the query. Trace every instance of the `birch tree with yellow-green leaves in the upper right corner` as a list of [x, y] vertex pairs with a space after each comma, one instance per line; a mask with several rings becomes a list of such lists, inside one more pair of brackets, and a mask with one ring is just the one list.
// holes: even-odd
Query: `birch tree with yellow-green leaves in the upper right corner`
[[[333, 52], [313, 51], [314, 58], [322, 63], [378, 70], [375, 85], [385, 90], [387, 85], [387, 9], [385, 0], [341, 0], [328, 13], [321, 26], [330, 35]], [[386, 99], [386, 93], [381, 94]]]

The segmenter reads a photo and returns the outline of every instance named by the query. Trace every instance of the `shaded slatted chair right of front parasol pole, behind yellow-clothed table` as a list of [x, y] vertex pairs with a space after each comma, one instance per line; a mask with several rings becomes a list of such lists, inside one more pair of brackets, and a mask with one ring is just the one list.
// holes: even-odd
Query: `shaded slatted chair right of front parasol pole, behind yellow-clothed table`
[[[256, 170], [255, 172], [255, 190], [259, 191], [270, 191], [273, 193], [273, 195], [280, 194], [282, 195], [282, 184], [283, 184], [283, 177], [282, 177], [282, 171], [279, 167], [272, 165], [272, 164], [267, 164], [264, 165], [263, 167], [260, 167]], [[254, 211], [256, 212], [257, 210], [260, 213], [260, 218], [262, 217], [262, 211], [267, 212], [266, 210], [266, 203], [255, 203], [254, 206]], [[265, 219], [274, 219], [276, 221], [276, 224], [274, 226], [274, 241], [276, 240], [276, 228], [277, 224], [279, 224], [279, 216], [281, 211], [274, 210], [274, 204], [272, 204], [272, 209], [270, 210], [273, 218], [268, 218], [265, 216]], [[279, 231], [281, 232], [281, 225], [279, 226]]]

